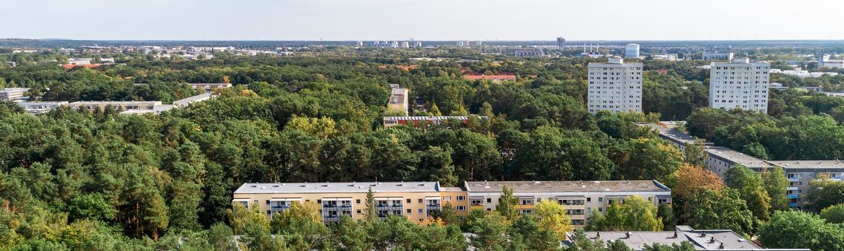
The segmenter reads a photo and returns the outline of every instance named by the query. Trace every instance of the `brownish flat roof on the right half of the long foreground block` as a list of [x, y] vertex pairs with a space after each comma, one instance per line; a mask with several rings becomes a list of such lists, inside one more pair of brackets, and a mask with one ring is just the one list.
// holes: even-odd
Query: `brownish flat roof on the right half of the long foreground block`
[[470, 193], [500, 193], [504, 185], [510, 187], [514, 193], [671, 191], [656, 180], [466, 181], [465, 184]]

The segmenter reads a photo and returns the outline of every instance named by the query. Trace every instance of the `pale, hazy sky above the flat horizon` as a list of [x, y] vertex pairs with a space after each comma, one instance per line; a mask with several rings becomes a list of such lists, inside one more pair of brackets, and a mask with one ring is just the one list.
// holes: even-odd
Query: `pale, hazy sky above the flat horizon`
[[0, 38], [844, 40], [844, 0], [0, 0]]

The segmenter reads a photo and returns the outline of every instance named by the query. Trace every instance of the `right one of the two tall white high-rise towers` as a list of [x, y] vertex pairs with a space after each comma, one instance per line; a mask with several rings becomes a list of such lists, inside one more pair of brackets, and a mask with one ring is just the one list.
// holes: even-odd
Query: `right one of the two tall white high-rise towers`
[[771, 64], [736, 58], [732, 62], [711, 62], [709, 106], [768, 112]]

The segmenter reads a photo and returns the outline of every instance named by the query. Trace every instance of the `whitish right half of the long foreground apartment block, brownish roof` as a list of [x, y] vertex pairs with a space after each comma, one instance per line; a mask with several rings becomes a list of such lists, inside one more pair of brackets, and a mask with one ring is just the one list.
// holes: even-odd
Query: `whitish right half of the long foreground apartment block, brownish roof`
[[584, 227], [592, 211], [603, 212], [611, 203], [624, 203], [633, 195], [659, 203], [671, 203], [671, 190], [656, 180], [602, 181], [466, 181], [469, 210], [494, 211], [504, 186], [518, 198], [519, 214], [532, 214], [542, 200], [565, 206], [571, 224]]

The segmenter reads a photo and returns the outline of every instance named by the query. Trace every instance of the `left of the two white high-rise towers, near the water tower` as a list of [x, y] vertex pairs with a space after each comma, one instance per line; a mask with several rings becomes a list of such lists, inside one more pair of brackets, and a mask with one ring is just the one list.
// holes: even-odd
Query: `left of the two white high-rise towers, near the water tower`
[[625, 63], [621, 58], [589, 63], [589, 112], [641, 112], [641, 68], [641, 62]]

